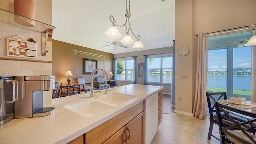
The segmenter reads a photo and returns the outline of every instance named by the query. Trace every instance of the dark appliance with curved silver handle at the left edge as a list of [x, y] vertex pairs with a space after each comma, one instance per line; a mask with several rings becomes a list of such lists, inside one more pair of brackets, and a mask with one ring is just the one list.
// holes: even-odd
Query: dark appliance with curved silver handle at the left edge
[[14, 102], [18, 100], [18, 82], [14, 76], [0, 77], [0, 125], [14, 119]]

